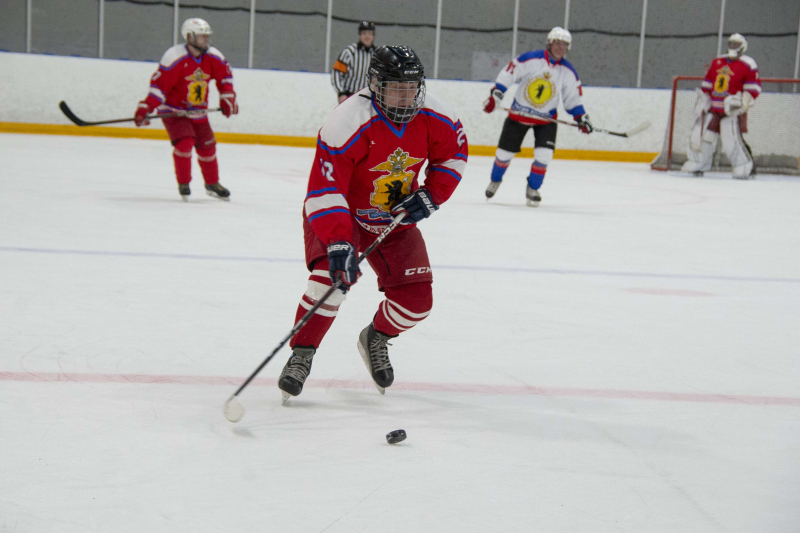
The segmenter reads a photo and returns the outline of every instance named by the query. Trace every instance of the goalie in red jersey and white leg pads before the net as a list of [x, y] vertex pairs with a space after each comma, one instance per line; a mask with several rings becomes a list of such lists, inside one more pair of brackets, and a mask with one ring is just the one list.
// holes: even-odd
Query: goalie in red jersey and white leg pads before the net
[[761, 80], [756, 62], [744, 55], [745, 50], [747, 40], [734, 33], [728, 38], [728, 53], [711, 62], [698, 91], [696, 120], [682, 171], [700, 175], [711, 170], [717, 142], [722, 137], [733, 177], [755, 176], [753, 155], [742, 134], [747, 133], [747, 111], [761, 93]]

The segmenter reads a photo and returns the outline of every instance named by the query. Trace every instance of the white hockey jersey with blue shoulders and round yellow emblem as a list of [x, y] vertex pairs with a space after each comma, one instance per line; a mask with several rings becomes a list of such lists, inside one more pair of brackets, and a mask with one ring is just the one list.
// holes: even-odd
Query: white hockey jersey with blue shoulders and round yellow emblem
[[557, 118], [559, 98], [567, 113], [576, 119], [586, 113], [581, 102], [583, 89], [575, 67], [563, 57], [554, 61], [547, 50], [526, 52], [513, 59], [498, 74], [495, 87], [505, 93], [514, 83], [519, 83], [519, 87], [509, 116], [517, 122], [547, 123], [523, 115]]

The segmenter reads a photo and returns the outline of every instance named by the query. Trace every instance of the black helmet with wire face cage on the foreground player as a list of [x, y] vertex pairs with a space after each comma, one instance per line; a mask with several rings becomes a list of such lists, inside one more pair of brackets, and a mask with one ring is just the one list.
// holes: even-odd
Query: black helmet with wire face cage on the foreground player
[[411, 122], [425, 103], [425, 69], [407, 46], [382, 46], [369, 64], [369, 89], [395, 124]]

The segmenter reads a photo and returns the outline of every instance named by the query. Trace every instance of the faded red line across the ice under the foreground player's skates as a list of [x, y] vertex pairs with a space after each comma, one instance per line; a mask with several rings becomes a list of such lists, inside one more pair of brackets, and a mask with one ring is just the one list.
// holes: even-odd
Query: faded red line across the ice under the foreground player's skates
[[[171, 385], [238, 386], [244, 378], [225, 376], [153, 376], [148, 374], [81, 374], [56, 372], [0, 372], [0, 381], [74, 382], [74, 383], [137, 383]], [[274, 378], [254, 379], [250, 384], [275, 386]], [[372, 389], [372, 382], [356, 380], [309, 380], [306, 387], [319, 389]], [[709, 394], [693, 392], [637, 391], [619, 389], [577, 389], [566, 387], [534, 387], [525, 385], [484, 385], [469, 383], [396, 383], [395, 391], [450, 392], [489, 394], [496, 396], [564, 396], [575, 398], [607, 398], [651, 400], [661, 402], [732, 403], [745, 405], [788, 405], [800, 407], [800, 398], [782, 396], [750, 396], [745, 394]]]

